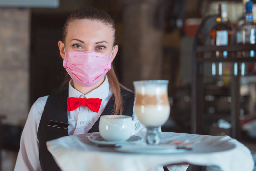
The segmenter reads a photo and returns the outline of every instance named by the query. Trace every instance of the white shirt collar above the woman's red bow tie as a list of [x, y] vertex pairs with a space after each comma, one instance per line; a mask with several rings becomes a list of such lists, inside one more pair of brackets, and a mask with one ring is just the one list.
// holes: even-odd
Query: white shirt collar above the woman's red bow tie
[[104, 82], [96, 89], [92, 90], [91, 92], [87, 94], [82, 94], [81, 92], [77, 91], [73, 86], [73, 80], [71, 79], [68, 83], [68, 97], [76, 97], [76, 98], [100, 98], [104, 100], [107, 98], [109, 93], [109, 83], [108, 83], [108, 77], [105, 75]]

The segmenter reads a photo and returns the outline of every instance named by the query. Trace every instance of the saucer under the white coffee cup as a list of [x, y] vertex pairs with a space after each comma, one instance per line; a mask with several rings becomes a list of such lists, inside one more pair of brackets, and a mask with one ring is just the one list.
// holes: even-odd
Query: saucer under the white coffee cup
[[106, 141], [104, 140], [99, 133], [92, 134], [88, 137], [89, 141], [99, 144], [99, 145], [115, 145], [115, 144], [121, 144], [121, 143], [137, 143], [142, 141], [142, 138], [139, 136], [131, 136], [127, 141]]

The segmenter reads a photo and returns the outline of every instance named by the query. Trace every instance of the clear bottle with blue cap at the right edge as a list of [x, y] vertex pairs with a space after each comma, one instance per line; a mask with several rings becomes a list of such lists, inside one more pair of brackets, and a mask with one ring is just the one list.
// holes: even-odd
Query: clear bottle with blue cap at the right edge
[[[255, 44], [256, 25], [252, 21], [252, 5], [252, 1], [246, 3], [246, 15], [244, 19], [244, 24], [237, 31], [241, 34], [242, 39], [239, 44]], [[242, 57], [254, 57], [254, 51], [242, 51]]]

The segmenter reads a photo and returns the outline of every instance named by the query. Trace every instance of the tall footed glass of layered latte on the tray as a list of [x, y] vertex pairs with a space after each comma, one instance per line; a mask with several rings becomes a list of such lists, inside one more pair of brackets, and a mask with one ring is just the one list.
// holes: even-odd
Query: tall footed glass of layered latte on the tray
[[158, 127], [164, 125], [170, 115], [167, 93], [168, 80], [134, 81], [134, 108], [138, 120], [148, 129], [148, 144], [159, 144]]

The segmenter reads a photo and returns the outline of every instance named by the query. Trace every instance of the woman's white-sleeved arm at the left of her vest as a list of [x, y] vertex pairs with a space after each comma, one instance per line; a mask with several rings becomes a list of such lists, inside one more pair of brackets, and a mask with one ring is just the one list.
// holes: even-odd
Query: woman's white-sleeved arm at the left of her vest
[[47, 98], [48, 96], [37, 99], [30, 109], [21, 135], [20, 150], [14, 171], [41, 171], [37, 129]]

